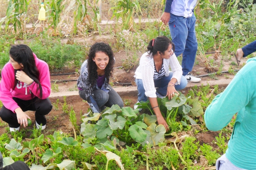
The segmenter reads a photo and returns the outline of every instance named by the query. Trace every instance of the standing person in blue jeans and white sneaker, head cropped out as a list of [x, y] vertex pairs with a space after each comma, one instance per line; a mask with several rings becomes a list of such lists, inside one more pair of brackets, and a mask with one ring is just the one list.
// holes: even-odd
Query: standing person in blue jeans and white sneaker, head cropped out
[[166, 7], [161, 20], [164, 24], [169, 23], [172, 42], [175, 44], [175, 55], [182, 57], [183, 76], [188, 82], [200, 82], [201, 79], [194, 77], [192, 71], [198, 42], [195, 35], [194, 8], [197, 0], [166, 0]]

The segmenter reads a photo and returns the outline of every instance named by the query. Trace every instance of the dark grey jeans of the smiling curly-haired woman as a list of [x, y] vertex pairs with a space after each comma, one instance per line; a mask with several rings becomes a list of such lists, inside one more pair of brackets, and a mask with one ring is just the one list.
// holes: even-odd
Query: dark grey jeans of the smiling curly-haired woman
[[[108, 88], [110, 88], [110, 91], [108, 93], [100, 89], [93, 91], [93, 98], [97, 103], [98, 107], [102, 108], [102, 106], [107, 106], [111, 108], [112, 105], [119, 105], [120, 108], [124, 107], [124, 103], [119, 94], [117, 94], [110, 85], [108, 85]], [[86, 100], [84, 93], [84, 90], [79, 91], [79, 96], [82, 99]]]

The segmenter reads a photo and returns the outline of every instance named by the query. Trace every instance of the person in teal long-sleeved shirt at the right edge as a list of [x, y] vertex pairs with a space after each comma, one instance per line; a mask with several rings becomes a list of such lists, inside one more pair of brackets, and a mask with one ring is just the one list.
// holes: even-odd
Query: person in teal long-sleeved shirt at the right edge
[[216, 170], [256, 170], [256, 57], [236, 74], [205, 111], [209, 130], [227, 126], [237, 113], [226, 153], [216, 162]]

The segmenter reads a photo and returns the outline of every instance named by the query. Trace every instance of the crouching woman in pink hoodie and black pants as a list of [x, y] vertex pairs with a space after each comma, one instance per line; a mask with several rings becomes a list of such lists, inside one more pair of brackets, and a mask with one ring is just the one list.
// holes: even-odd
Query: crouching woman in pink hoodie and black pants
[[0, 117], [7, 122], [10, 131], [28, 126], [25, 111], [35, 111], [37, 128], [46, 127], [47, 115], [52, 110], [48, 99], [51, 91], [49, 67], [38, 59], [27, 45], [12, 45], [10, 60], [3, 67], [0, 82], [0, 100], [3, 107]]

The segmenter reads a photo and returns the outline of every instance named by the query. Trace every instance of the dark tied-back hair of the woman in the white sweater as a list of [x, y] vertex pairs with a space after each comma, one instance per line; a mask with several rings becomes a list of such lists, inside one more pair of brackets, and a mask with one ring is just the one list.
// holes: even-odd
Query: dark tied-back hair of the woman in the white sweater
[[172, 50], [175, 51], [175, 45], [173, 42], [167, 38], [166, 36], [160, 36], [154, 39], [154, 46], [152, 46], [153, 40], [150, 40], [148, 43], [148, 54], [151, 54], [154, 56], [154, 54], [157, 54], [157, 51], [160, 51], [164, 54], [164, 52], [168, 49], [169, 45], [172, 44]]

